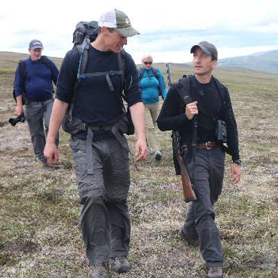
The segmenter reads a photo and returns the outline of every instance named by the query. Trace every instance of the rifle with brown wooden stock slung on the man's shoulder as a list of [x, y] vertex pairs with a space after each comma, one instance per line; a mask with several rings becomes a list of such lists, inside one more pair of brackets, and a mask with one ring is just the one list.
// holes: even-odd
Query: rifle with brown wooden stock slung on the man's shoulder
[[[169, 90], [170, 86], [172, 85], [171, 74], [170, 74], [170, 63], [167, 63], [166, 67], [167, 67], [167, 80], [168, 80], [168, 90]], [[181, 157], [183, 151], [180, 146], [181, 137], [179, 135], [179, 131], [172, 131], [172, 136], [173, 136], [173, 140], [174, 140], [174, 153], [176, 155], [177, 162], [179, 163], [179, 167], [181, 170], [181, 183], [183, 186], [184, 201], [186, 203], [188, 203], [197, 198], [196, 198], [195, 192], [193, 190], [193, 185], [190, 181], [190, 177], [188, 175], [186, 165], [183, 163], [183, 159]]]

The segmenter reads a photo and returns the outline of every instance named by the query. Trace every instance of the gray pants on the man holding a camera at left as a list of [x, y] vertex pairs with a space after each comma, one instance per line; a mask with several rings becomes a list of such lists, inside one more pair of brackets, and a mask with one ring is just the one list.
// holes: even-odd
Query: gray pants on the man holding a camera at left
[[[28, 129], [33, 143], [35, 156], [42, 161], [44, 157], [45, 138], [48, 134], [49, 121], [52, 112], [54, 99], [45, 101], [32, 101], [25, 106], [25, 115]], [[44, 120], [44, 126], [43, 126]], [[45, 128], [45, 133], [44, 133]], [[59, 145], [59, 134], [56, 137], [56, 146]]]

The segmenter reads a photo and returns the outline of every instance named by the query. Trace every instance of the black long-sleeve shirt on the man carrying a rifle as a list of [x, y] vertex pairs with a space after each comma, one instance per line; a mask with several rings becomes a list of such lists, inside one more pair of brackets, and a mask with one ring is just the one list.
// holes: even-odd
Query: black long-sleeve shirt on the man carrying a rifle
[[[215, 126], [217, 120], [224, 120], [227, 126], [227, 147], [231, 149], [233, 161], [239, 159], [238, 130], [231, 106], [229, 91], [224, 87], [224, 96], [219, 92], [215, 81], [201, 84], [204, 96], [193, 86], [190, 81], [190, 97], [197, 101], [197, 144], [216, 140]], [[193, 122], [186, 117], [186, 104], [181, 99], [179, 92], [172, 86], [168, 93], [161, 113], [158, 115], [157, 124], [161, 131], [177, 130], [183, 145], [190, 145], [193, 138]]]

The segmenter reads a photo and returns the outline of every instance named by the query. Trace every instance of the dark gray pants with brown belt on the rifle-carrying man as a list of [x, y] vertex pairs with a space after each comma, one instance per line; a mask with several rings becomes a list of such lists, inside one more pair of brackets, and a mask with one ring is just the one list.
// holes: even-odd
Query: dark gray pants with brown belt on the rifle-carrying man
[[[183, 151], [188, 174], [193, 181], [193, 159]], [[195, 156], [194, 187], [197, 200], [190, 203], [183, 233], [200, 240], [200, 252], [206, 266], [223, 265], [222, 243], [218, 227], [214, 222], [213, 204], [222, 191], [225, 153], [221, 146], [213, 149], [197, 149]]]

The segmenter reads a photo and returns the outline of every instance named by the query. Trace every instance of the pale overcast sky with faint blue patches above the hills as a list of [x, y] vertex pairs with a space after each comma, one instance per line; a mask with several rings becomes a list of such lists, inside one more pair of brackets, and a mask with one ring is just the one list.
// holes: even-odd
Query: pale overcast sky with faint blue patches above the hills
[[10, 0], [1, 4], [0, 51], [28, 54], [36, 38], [44, 55], [63, 58], [72, 49], [76, 23], [98, 20], [113, 8], [140, 32], [124, 47], [136, 63], [144, 54], [155, 63], [190, 62], [190, 48], [202, 40], [215, 44], [218, 58], [278, 49], [277, 0]]

